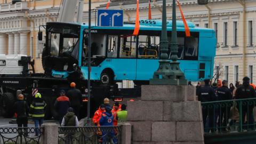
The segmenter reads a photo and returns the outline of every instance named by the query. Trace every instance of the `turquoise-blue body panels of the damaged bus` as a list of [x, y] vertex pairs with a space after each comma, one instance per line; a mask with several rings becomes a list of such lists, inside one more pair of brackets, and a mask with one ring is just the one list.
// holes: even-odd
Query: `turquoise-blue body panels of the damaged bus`
[[[144, 23], [143, 23], [144, 22]], [[162, 22], [157, 20], [141, 20], [140, 31], [150, 31], [150, 32], [157, 32], [161, 33], [162, 30]], [[213, 29], [207, 28], [198, 28], [195, 27], [194, 23], [188, 22], [188, 26], [190, 28], [191, 33], [198, 34], [196, 42], [198, 44], [197, 50], [191, 52], [188, 49], [191, 47], [186, 47], [185, 44], [183, 45], [183, 53], [193, 53], [193, 59], [189, 58], [189, 55], [186, 55], [187, 59], [180, 59], [180, 68], [185, 73], [186, 79], [188, 81], [200, 81], [205, 78], [211, 78], [213, 75], [213, 65], [214, 65], [214, 57], [215, 57], [215, 46], [216, 46], [216, 39], [215, 39], [215, 32]], [[97, 34], [97, 30], [108, 31], [110, 34], [102, 34], [102, 35], [111, 35], [111, 31], [115, 30], [133, 30], [134, 24], [124, 24], [123, 27], [92, 27], [92, 35], [95, 33]], [[83, 39], [83, 32], [87, 30], [86, 25], [81, 25], [81, 33], [80, 39]], [[171, 33], [172, 30], [172, 22], [167, 22], [167, 30], [168, 33]], [[184, 33], [185, 29], [183, 26], [182, 21], [177, 22], [177, 31], [178, 33], [182, 31]], [[149, 33], [150, 33], [149, 32]], [[141, 33], [141, 32], [140, 32]], [[139, 35], [140, 35], [139, 33]], [[185, 34], [185, 33], [184, 33]], [[120, 34], [122, 33], [120, 32]], [[119, 38], [120, 39], [120, 38]], [[120, 41], [120, 40], [118, 40]], [[107, 43], [107, 42], [106, 42]], [[185, 43], [185, 42], [184, 42]], [[79, 47], [83, 47], [82, 41], [79, 43]], [[116, 45], [117, 49], [121, 49], [122, 44]], [[105, 47], [101, 44], [100, 49], [108, 49], [107, 44]], [[136, 47], [135, 47], [136, 48]], [[187, 50], [185, 50], [185, 48]], [[116, 49], [116, 48], [115, 48]], [[138, 45], [137, 45], [138, 49]], [[119, 50], [120, 51], [120, 50]], [[118, 51], [118, 55], [119, 55]], [[113, 70], [114, 73], [114, 80], [121, 81], [121, 80], [135, 80], [135, 81], [148, 81], [150, 78], [153, 78], [154, 71], [158, 69], [159, 66], [159, 57], [158, 58], [138, 58], [138, 50], [136, 50], [136, 58], [108, 58], [106, 53], [103, 54], [104, 60], [97, 65], [92, 66], [91, 68], [91, 79], [92, 80], [100, 80], [101, 74], [106, 69]], [[158, 49], [159, 51], [159, 49]], [[82, 66], [82, 49], [79, 49], [79, 60], [78, 66], [81, 67], [82, 73], [87, 79], [87, 67]], [[191, 55], [190, 55], [191, 56]], [[170, 60], [171, 61], [171, 60]], [[60, 71], [52, 71], [52, 75], [63, 75], [67, 77], [69, 73], [62, 73]]]

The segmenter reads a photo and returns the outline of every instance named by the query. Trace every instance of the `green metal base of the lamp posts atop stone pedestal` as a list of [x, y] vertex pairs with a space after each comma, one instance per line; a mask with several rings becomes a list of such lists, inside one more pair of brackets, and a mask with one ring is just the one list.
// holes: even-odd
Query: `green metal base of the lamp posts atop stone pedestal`
[[184, 73], [179, 68], [177, 61], [160, 60], [159, 68], [154, 73], [153, 79], [149, 80], [150, 85], [188, 85]]

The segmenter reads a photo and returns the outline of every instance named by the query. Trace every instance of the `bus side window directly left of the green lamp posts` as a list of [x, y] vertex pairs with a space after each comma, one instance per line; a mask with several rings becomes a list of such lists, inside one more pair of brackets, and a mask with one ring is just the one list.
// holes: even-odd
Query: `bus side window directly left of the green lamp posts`
[[139, 36], [138, 57], [143, 59], [156, 59], [159, 55], [160, 37], [158, 36]]

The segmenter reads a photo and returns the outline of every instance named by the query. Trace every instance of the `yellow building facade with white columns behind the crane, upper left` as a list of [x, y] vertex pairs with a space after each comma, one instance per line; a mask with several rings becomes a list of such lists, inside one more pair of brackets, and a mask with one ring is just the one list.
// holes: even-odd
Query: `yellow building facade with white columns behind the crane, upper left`
[[[106, 2], [93, 0], [92, 9]], [[22, 0], [12, 4], [11, 0], [0, 0], [0, 54], [30, 55], [35, 60], [36, 72], [43, 73], [41, 54], [45, 36], [38, 41], [37, 33], [40, 25], [57, 20], [60, 3], [61, 0]], [[87, 10], [88, 1], [84, 1], [83, 21]]]

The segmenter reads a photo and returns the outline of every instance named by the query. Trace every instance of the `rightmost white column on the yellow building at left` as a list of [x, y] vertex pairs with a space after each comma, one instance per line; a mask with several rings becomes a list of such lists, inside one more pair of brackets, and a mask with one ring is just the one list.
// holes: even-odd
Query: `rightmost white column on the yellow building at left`
[[29, 31], [20, 31], [20, 54], [28, 55], [28, 33]]

